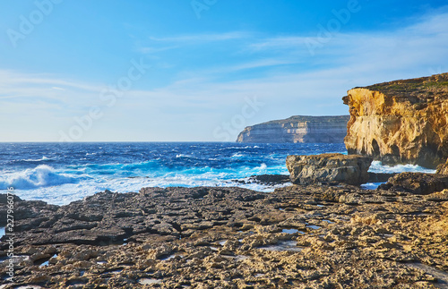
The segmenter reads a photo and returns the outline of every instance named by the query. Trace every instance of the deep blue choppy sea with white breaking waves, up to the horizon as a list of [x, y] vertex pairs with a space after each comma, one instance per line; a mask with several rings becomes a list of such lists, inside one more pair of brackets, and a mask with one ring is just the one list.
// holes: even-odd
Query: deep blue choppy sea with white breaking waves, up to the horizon
[[[255, 191], [279, 187], [237, 183], [251, 175], [289, 174], [289, 155], [347, 154], [343, 143], [246, 144], [235, 142], [0, 143], [0, 193], [65, 205], [99, 191], [143, 187], [238, 186]], [[426, 172], [421, 166], [383, 166], [375, 173]], [[366, 183], [375, 189], [379, 183]]]

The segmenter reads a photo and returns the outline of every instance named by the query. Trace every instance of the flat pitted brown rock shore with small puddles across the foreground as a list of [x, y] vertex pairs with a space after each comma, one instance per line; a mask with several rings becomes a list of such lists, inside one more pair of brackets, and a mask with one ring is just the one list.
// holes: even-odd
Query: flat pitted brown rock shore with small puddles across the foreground
[[62, 207], [16, 198], [15, 278], [4, 236], [1, 288], [446, 288], [448, 190], [415, 177], [105, 191]]

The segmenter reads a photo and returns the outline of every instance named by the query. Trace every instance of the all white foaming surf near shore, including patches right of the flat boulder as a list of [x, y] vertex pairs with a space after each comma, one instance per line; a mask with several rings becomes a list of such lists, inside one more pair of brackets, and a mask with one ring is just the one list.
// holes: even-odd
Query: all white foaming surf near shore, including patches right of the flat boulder
[[[240, 152], [235, 155], [242, 156]], [[374, 162], [370, 171], [434, 172], [412, 165], [382, 166], [380, 162]], [[231, 181], [245, 179], [253, 174], [288, 174], [288, 170], [284, 165], [268, 166], [265, 163], [259, 166], [229, 166], [220, 169], [209, 166], [169, 169], [160, 167], [158, 162], [153, 160], [134, 164], [67, 166], [66, 170], [41, 165], [22, 172], [3, 171], [0, 174], [0, 190], [14, 187], [15, 193], [25, 200], [45, 200], [63, 205], [105, 190], [127, 192], [140, 191], [142, 187], [239, 186], [254, 191], [273, 191], [285, 185], [266, 186], [260, 183], [240, 184]], [[379, 183], [366, 183], [362, 187], [375, 189], [378, 185]]]

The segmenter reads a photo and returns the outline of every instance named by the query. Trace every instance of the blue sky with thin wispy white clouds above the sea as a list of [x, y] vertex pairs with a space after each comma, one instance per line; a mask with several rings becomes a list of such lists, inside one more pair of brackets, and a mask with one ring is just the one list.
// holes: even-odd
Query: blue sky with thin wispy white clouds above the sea
[[421, 0], [0, 0], [0, 141], [234, 141], [448, 72]]

